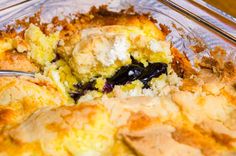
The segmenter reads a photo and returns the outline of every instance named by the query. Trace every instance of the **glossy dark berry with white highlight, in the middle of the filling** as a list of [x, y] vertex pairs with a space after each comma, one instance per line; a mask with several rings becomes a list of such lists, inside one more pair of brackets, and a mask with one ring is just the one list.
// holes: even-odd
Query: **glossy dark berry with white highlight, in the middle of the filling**
[[113, 77], [107, 79], [107, 81], [113, 85], [124, 85], [127, 82], [137, 80], [143, 71], [144, 68], [138, 65], [124, 66]]

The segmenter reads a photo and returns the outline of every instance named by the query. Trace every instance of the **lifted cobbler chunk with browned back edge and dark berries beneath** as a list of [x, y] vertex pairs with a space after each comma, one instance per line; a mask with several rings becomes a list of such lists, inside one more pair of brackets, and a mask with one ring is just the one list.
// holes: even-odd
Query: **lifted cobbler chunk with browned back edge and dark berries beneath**
[[[116, 86], [133, 83], [131, 88], [136, 89], [138, 83], [141, 84], [138, 90], [142, 90], [150, 88], [154, 84], [151, 80], [161, 75], [166, 75], [162, 76], [164, 83], [177, 77], [170, 66], [171, 44], [147, 17], [121, 15], [115, 16], [112, 23], [109, 21], [108, 16], [102, 15], [82, 26], [69, 25], [61, 31], [63, 41], [57, 53], [68, 63], [78, 81], [69, 89], [71, 97], [77, 100], [85, 95], [84, 99], [91, 99], [107, 93], [111, 97], [119, 96], [117, 91], [113, 92]], [[129, 88], [124, 90], [130, 91]]]

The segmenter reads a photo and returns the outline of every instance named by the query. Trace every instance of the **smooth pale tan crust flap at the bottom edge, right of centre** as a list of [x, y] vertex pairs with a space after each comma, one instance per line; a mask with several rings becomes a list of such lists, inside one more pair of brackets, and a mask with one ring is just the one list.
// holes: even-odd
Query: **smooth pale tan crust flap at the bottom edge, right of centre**
[[138, 155], [150, 156], [201, 156], [197, 148], [175, 141], [171, 133], [174, 128], [157, 124], [143, 131], [123, 133], [125, 141], [136, 150]]

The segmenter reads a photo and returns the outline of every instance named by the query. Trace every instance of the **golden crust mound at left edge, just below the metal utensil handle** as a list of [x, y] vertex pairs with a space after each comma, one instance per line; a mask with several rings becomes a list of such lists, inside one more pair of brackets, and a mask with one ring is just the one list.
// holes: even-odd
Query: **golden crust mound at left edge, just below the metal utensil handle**
[[63, 105], [65, 101], [65, 97], [48, 82], [0, 77], [0, 129], [21, 122], [38, 108]]

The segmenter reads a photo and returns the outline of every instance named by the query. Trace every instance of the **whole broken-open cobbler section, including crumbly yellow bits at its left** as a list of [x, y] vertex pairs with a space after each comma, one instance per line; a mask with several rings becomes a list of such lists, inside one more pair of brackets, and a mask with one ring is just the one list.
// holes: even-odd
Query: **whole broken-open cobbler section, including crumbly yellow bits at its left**
[[21, 37], [2, 45], [27, 56], [70, 102], [156, 95], [179, 83], [171, 44], [147, 16], [91, 13], [61, 26], [45, 32], [49, 26], [29, 24]]

